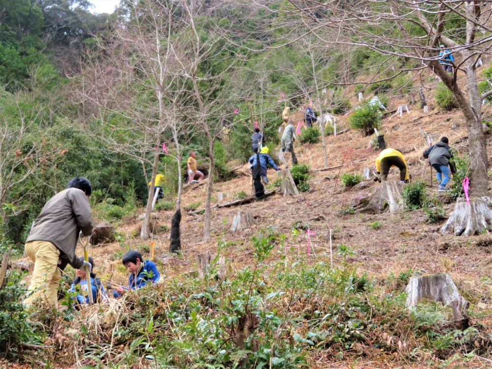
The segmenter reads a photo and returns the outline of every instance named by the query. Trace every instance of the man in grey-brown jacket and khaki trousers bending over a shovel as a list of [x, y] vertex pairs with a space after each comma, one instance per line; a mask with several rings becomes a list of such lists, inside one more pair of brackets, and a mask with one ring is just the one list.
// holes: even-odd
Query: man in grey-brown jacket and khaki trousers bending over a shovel
[[58, 301], [61, 270], [67, 264], [83, 269], [86, 264], [75, 255], [79, 233], [92, 234], [92, 214], [89, 196], [91, 183], [83, 178], [72, 179], [65, 190], [53, 196], [36, 218], [26, 240], [25, 250], [34, 262], [29, 290], [32, 291], [24, 303], [32, 305], [41, 298], [49, 303]]

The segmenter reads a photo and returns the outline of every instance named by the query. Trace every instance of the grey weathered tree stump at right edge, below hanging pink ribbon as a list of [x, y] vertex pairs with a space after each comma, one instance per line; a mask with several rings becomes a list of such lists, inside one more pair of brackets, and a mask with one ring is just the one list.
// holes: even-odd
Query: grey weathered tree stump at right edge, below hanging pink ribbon
[[474, 236], [492, 229], [492, 200], [488, 196], [470, 199], [459, 198], [455, 210], [446, 224], [439, 231], [442, 234], [455, 236]]

